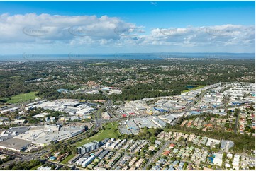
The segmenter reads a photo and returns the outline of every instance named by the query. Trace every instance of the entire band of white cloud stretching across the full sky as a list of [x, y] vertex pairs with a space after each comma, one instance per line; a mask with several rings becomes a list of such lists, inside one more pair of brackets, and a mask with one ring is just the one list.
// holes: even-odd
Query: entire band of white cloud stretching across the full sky
[[[108, 16], [58, 16], [27, 13], [0, 16], [0, 50], [7, 47], [47, 49], [48, 47], [143, 47], [157, 45], [187, 48], [214, 49], [248, 47], [255, 52], [255, 26], [213, 25], [210, 27], [154, 28], [145, 33], [143, 26], [126, 23], [120, 18]], [[12, 46], [13, 45], [13, 46]], [[228, 49], [226, 48], [226, 49]], [[130, 49], [130, 48], [128, 48]], [[241, 48], [239, 48], [241, 49]], [[16, 50], [16, 49], [13, 49]], [[13, 51], [12, 51], [13, 52]], [[235, 51], [234, 51], [235, 52]]]

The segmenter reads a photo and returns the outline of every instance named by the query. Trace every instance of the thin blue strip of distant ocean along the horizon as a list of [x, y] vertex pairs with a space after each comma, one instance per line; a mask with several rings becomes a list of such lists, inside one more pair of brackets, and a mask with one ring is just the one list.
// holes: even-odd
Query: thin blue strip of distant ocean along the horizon
[[0, 61], [79, 61], [89, 59], [255, 59], [255, 54], [244, 53], [119, 53], [119, 54], [16, 54], [0, 55]]

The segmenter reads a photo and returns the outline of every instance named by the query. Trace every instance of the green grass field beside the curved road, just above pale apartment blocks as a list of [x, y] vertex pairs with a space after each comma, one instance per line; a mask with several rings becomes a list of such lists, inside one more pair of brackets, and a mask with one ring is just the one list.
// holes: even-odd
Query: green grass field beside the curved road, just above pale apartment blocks
[[[101, 130], [98, 134], [91, 136], [90, 138], [86, 138], [83, 141], [80, 141], [76, 144], [77, 147], [84, 145], [85, 143], [89, 143], [91, 141], [101, 141], [105, 138], [118, 138], [121, 134], [118, 131], [118, 122], [110, 122], [104, 125], [105, 130]], [[117, 131], [115, 131], [117, 129]]]

